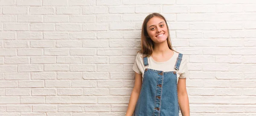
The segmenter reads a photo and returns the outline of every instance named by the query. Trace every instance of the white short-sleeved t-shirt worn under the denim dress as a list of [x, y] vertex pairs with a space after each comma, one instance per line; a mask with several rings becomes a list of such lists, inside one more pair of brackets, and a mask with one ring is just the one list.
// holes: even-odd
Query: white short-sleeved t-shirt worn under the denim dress
[[[164, 62], [157, 62], [154, 61], [154, 59], [151, 56], [148, 56], [148, 69], [153, 69], [153, 70], [161, 70], [163, 72], [168, 72], [168, 71], [177, 71], [174, 67], [178, 58], [179, 53], [174, 52], [174, 55], [172, 58], [170, 58], [168, 61]], [[189, 72], [187, 68], [187, 60], [186, 60], [186, 55], [182, 56], [182, 60], [180, 63], [180, 68], [177, 71], [177, 79], [178, 78], [188, 78], [189, 77]], [[144, 70], [145, 70], [144, 62], [143, 62], [143, 57], [142, 53], [137, 53], [136, 59], [134, 61], [134, 65], [132, 69], [139, 74], [144, 75]]]

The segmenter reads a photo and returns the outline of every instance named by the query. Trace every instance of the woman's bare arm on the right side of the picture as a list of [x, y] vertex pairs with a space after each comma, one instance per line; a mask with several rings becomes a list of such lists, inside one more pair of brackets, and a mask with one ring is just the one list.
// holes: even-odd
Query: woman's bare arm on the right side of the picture
[[179, 78], [178, 81], [178, 102], [182, 116], [190, 116], [189, 97], [186, 91], [186, 78]]

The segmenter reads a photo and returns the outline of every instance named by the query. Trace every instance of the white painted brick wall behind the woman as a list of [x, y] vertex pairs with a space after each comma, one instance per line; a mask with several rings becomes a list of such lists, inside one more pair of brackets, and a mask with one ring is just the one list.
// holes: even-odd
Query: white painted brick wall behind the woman
[[124, 116], [151, 12], [189, 56], [191, 116], [256, 116], [256, 0], [0, 0], [0, 116]]

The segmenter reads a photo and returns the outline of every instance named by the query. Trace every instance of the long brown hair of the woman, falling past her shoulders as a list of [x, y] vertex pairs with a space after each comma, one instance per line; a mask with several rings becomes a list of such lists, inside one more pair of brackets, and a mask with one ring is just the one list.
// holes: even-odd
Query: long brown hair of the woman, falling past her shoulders
[[142, 29], [141, 29], [141, 49], [138, 52], [143, 53], [143, 57], [148, 57], [148, 56], [152, 55], [152, 52], [153, 52], [154, 42], [148, 36], [147, 23], [148, 23], [148, 20], [150, 20], [152, 17], [155, 17], [155, 16], [156, 17], [160, 17], [160, 18], [162, 18], [165, 21], [166, 26], [167, 26], [167, 30], [168, 30], [167, 44], [168, 44], [169, 49], [172, 49], [173, 51], [175, 51], [172, 48], [172, 43], [171, 43], [171, 40], [170, 40], [169, 27], [167, 25], [165, 17], [163, 17], [163, 15], [161, 15], [159, 13], [152, 13], [152, 14], [149, 14], [147, 17], [145, 17], [145, 19], [143, 21], [143, 24], [142, 24]]

